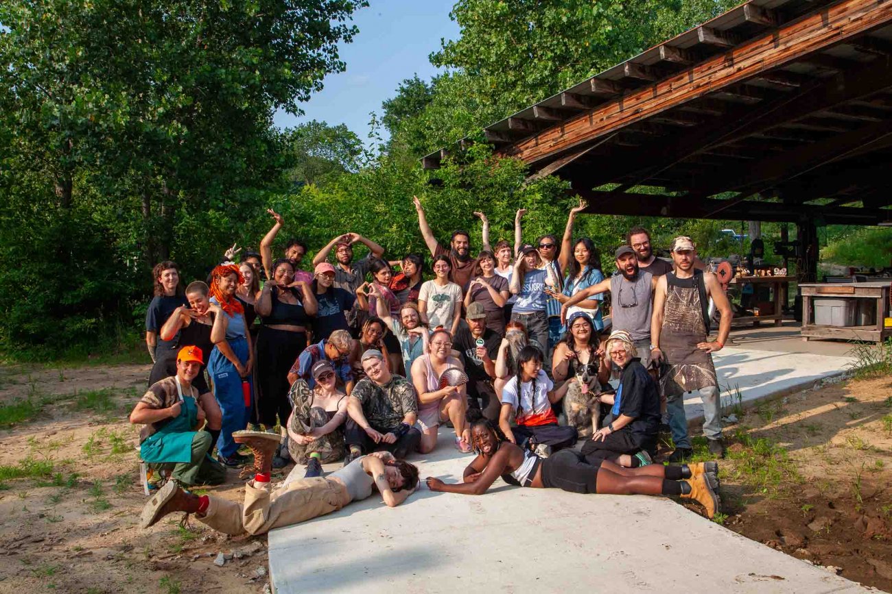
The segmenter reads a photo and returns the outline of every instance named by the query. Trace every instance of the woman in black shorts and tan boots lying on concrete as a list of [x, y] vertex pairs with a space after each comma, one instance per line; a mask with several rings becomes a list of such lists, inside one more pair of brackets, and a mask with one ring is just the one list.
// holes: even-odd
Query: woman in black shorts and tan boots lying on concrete
[[467, 465], [463, 482], [443, 483], [425, 478], [431, 491], [482, 495], [497, 478], [508, 484], [538, 489], [563, 489], [577, 493], [607, 495], [675, 495], [698, 501], [706, 517], [719, 512], [718, 463], [698, 462], [681, 466], [651, 464], [623, 468], [610, 460], [589, 464], [573, 450], [561, 450], [547, 459], [521, 450], [487, 419], [471, 426], [477, 457]]

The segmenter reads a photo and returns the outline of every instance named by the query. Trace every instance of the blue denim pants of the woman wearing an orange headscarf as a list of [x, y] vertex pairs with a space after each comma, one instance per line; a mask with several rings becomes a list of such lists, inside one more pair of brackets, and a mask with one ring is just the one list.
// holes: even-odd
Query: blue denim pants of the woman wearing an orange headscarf
[[[235, 338], [227, 342], [238, 360], [243, 365], [246, 364], [248, 362], [248, 341], [244, 338]], [[232, 439], [232, 432], [241, 431], [248, 426], [248, 420], [251, 418], [251, 406], [244, 405], [242, 378], [235, 370], [235, 365], [229, 362], [216, 346], [211, 351], [208, 372], [214, 384], [214, 397], [217, 398], [220, 411], [223, 413], [217, 451], [220, 456], [228, 458], [239, 448], [238, 443]], [[251, 375], [247, 379], [252, 382]], [[253, 386], [251, 393], [254, 393]]]

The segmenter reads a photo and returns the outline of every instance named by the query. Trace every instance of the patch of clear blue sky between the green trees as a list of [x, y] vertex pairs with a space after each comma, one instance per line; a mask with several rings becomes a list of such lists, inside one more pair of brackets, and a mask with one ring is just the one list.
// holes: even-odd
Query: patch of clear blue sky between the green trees
[[381, 103], [391, 98], [401, 81], [428, 79], [437, 69], [427, 56], [440, 48], [440, 39], [458, 37], [458, 24], [449, 12], [455, 0], [370, 0], [353, 15], [359, 35], [340, 45], [347, 69], [328, 75], [325, 88], [302, 103], [305, 115], [295, 118], [280, 111], [275, 123], [296, 126], [311, 119], [335, 126], [346, 124], [363, 141], [369, 112], [381, 116]]

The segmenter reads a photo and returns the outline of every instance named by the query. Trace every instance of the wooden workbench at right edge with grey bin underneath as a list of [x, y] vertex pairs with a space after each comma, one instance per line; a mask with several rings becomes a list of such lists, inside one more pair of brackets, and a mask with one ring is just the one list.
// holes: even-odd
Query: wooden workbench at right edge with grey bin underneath
[[[805, 283], [802, 289], [802, 337], [840, 338], [844, 340], [865, 340], [882, 342], [892, 337], [892, 328], [884, 328], [889, 315], [889, 287], [892, 281], [871, 282], [824, 282]], [[819, 326], [812, 321], [814, 297], [837, 299], [874, 299], [877, 308], [877, 323], [871, 326]]]

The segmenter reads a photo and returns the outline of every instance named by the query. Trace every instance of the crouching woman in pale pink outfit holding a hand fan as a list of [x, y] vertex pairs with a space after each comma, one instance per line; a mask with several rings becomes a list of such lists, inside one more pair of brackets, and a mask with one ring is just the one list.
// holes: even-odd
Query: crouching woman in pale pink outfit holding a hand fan
[[440, 386], [443, 371], [464, 370], [464, 363], [452, 356], [452, 336], [446, 330], [434, 330], [429, 353], [412, 363], [412, 379], [418, 394], [418, 425], [421, 443], [418, 452], [434, 452], [437, 429], [441, 423], [452, 421], [455, 428], [455, 447], [462, 453], [471, 452], [471, 434], [467, 430], [467, 384]]

